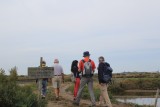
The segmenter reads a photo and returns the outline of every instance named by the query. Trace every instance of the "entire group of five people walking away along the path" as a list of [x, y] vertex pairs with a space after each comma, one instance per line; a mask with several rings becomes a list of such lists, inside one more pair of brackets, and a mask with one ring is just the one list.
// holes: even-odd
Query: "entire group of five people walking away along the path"
[[[73, 73], [73, 76], [75, 77], [75, 84], [74, 84], [74, 100], [73, 104], [75, 106], [79, 106], [81, 95], [83, 92], [84, 87], [88, 86], [88, 91], [91, 98], [91, 106], [96, 106], [96, 100], [94, 96], [93, 91], [93, 75], [96, 69], [96, 65], [93, 60], [90, 59], [90, 53], [88, 51], [85, 51], [83, 53], [83, 59], [79, 62], [77, 60], [74, 60], [71, 65], [71, 72]], [[98, 64], [98, 80], [99, 80], [99, 87], [100, 87], [100, 106], [104, 107], [112, 107], [111, 101], [108, 96], [107, 87], [108, 83], [111, 81], [112, 77], [112, 68], [110, 67], [110, 64], [105, 62], [105, 59], [103, 56], [98, 58], [99, 64]], [[59, 93], [60, 93], [60, 84], [63, 81], [64, 82], [64, 73], [62, 67], [59, 65], [59, 60], [54, 60], [54, 78], [52, 78], [52, 84], [54, 87], [54, 93], [56, 95], [56, 99], [59, 99]], [[106, 70], [109, 69], [109, 70]], [[109, 78], [109, 77], [110, 78]], [[46, 79], [43, 79], [46, 81]], [[47, 83], [47, 82], [44, 82]], [[42, 97], [45, 97], [46, 95], [46, 84], [43, 84], [42, 82]]]

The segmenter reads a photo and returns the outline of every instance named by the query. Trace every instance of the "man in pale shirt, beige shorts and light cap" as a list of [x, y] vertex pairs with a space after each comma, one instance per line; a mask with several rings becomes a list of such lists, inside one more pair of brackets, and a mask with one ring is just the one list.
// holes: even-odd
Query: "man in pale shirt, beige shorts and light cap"
[[62, 66], [59, 65], [58, 59], [54, 60], [53, 67], [54, 67], [54, 78], [52, 78], [52, 83], [53, 83], [54, 93], [56, 95], [56, 100], [58, 100], [60, 94], [61, 81], [64, 83], [64, 73]]

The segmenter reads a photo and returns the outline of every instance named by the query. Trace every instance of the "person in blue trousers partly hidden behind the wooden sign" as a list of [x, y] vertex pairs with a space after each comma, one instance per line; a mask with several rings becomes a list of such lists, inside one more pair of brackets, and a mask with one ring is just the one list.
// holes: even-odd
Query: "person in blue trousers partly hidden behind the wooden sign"
[[[46, 62], [45, 61], [42, 61], [42, 67], [46, 67]], [[42, 89], [41, 89], [42, 99], [44, 99], [46, 97], [47, 82], [48, 82], [48, 78], [43, 78], [42, 79]]]

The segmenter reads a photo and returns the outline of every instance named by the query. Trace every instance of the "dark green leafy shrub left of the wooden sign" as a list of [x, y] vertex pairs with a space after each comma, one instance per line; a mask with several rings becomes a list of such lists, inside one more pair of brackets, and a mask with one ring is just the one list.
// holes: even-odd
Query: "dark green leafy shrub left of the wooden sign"
[[7, 77], [0, 69], [0, 104], [1, 107], [45, 107], [46, 100], [38, 100], [30, 86], [17, 84], [17, 69], [13, 68]]

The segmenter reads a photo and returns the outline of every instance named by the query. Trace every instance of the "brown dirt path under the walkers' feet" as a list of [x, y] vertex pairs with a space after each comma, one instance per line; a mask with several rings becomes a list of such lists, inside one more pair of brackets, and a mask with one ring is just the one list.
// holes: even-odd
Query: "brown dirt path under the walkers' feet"
[[[72, 104], [73, 94], [65, 91], [71, 84], [72, 83], [62, 84], [60, 99], [58, 101], [56, 101], [55, 99], [53, 101], [49, 101], [47, 107], [75, 107]], [[89, 100], [81, 100], [80, 102], [80, 107], [89, 107], [89, 105], [90, 105]], [[113, 107], [132, 107], [132, 106], [127, 106], [124, 104], [113, 104]]]

